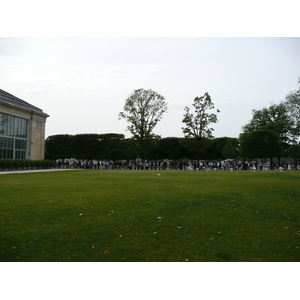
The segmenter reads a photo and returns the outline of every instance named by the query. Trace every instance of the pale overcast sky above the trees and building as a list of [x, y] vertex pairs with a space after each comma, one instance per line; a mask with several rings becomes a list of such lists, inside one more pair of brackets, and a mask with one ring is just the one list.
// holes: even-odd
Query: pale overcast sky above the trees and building
[[215, 137], [238, 137], [252, 109], [298, 88], [300, 38], [1, 38], [1, 89], [50, 115], [55, 134], [123, 133], [127, 96], [152, 89], [168, 112], [154, 132], [182, 137], [184, 107], [208, 92]]

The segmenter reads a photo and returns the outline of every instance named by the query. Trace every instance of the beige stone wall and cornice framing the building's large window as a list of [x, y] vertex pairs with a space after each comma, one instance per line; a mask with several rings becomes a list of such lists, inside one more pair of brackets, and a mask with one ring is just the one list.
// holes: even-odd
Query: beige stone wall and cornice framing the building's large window
[[0, 102], [0, 112], [29, 121], [26, 158], [32, 160], [44, 159], [45, 123], [48, 115], [15, 107], [3, 102]]

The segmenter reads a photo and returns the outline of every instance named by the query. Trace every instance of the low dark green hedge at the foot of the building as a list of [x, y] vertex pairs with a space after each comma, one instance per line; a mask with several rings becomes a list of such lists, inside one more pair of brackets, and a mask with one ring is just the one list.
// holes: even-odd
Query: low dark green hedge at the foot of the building
[[49, 169], [56, 166], [55, 160], [29, 160], [29, 159], [0, 159], [0, 171], [6, 170], [35, 170]]

